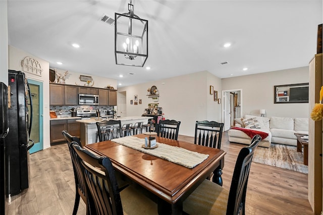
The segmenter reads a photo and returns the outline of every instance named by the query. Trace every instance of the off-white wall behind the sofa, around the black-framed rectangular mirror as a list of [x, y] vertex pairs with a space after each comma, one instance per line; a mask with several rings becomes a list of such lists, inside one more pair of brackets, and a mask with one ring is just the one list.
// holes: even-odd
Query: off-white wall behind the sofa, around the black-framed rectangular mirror
[[259, 114], [266, 110], [266, 117], [308, 118], [308, 103], [274, 103], [274, 86], [309, 82], [308, 67], [279, 70], [222, 79], [222, 90], [242, 89], [243, 113]]

